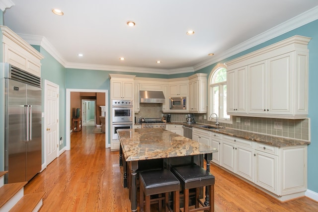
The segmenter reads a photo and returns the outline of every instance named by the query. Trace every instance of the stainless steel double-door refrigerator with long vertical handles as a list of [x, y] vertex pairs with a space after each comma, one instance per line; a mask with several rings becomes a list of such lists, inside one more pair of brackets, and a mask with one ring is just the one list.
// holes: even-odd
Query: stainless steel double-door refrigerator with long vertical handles
[[41, 171], [41, 78], [2, 64], [5, 81], [5, 183], [29, 181]]

